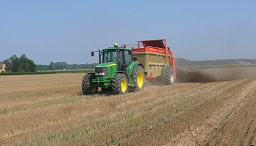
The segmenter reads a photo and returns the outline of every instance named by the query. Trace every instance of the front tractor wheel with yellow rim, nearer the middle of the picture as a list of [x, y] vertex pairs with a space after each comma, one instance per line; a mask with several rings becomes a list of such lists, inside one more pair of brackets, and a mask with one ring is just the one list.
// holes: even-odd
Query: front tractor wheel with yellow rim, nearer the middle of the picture
[[125, 74], [116, 74], [112, 82], [112, 91], [114, 94], [127, 93], [128, 80]]

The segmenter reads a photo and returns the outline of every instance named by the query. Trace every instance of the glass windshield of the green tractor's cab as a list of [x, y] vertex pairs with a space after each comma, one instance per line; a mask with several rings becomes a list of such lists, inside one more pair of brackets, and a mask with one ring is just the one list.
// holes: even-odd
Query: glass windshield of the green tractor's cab
[[103, 63], [117, 61], [117, 58], [121, 58], [121, 50], [103, 50]]

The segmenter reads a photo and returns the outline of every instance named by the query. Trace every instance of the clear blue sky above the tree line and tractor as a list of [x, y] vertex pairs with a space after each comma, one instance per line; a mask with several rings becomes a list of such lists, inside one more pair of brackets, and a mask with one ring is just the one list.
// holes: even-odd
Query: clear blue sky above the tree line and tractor
[[0, 0], [0, 61], [98, 61], [91, 50], [167, 39], [176, 58], [256, 55], [256, 1]]

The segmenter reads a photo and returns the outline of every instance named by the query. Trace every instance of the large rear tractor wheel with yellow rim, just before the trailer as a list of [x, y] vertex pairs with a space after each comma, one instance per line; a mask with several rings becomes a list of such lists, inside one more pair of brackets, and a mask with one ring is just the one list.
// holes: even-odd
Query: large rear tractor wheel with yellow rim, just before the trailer
[[132, 91], [142, 91], [145, 84], [145, 74], [141, 66], [136, 66], [132, 73], [132, 80], [135, 83], [135, 87], [132, 88]]

